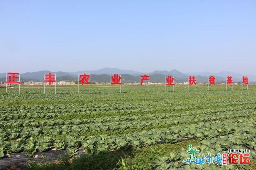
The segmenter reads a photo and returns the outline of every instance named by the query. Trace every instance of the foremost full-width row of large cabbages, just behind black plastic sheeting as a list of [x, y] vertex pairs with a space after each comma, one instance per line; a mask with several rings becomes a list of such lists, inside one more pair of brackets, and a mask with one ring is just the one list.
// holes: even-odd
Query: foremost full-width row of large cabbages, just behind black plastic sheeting
[[[240, 122], [240, 124], [237, 122]], [[82, 147], [86, 152], [95, 152], [108, 149], [127, 149], [130, 146], [148, 146], [158, 143], [159, 141], [176, 143], [181, 137], [215, 139], [218, 140], [220, 147], [225, 150], [236, 145], [246, 145], [249, 149], [255, 149], [255, 128], [256, 123], [254, 118], [238, 118], [233, 121], [212, 121], [209, 123], [198, 123], [158, 130], [127, 133], [119, 136], [66, 136], [62, 140], [54, 140], [51, 137], [31, 137], [28, 140], [20, 139], [20, 143], [9, 143], [7, 141], [2, 142], [0, 145], [0, 153], [1, 150], [4, 154], [19, 152], [22, 150], [26, 152], [36, 152], [37, 150], [46, 151], [53, 147], [56, 149], [64, 149], [65, 147]], [[24, 140], [26, 142], [24, 142]]]

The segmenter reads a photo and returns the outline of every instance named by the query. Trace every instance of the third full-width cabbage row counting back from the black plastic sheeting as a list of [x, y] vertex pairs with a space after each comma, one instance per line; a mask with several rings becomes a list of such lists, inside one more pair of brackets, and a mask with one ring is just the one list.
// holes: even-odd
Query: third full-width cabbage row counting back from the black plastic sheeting
[[[237, 107], [229, 107], [229, 108], [217, 108], [217, 109], [203, 109], [203, 110], [196, 110], [196, 111], [184, 111], [184, 112], [171, 112], [171, 113], [150, 113], [145, 115], [124, 115], [124, 116], [112, 116], [112, 117], [100, 117], [100, 118], [88, 118], [88, 119], [71, 119], [71, 120], [64, 120], [64, 119], [50, 119], [50, 120], [38, 120], [35, 121], [31, 120], [12, 120], [12, 121], [0, 121], [0, 131], [4, 129], [10, 128], [19, 128], [24, 127], [45, 127], [45, 126], [58, 126], [58, 125], [80, 125], [80, 124], [88, 124], [89, 126], [95, 126], [97, 123], [100, 125], [108, 125], [107, 123], [114, 122], [116, 125], [123, 125], [127, 121], [137, 121], [137, 120], [155, 120], [155, 119], [172, 119], [173, 123], [187, 123], [184, 117], [190, 116], [197, 116], [200, 120], [203, 121], [210, 121], [211, 117], [204, 117], [207, 114], [232, 114], [232, 112], [237, 112], [243, 110], [246, 112], [254, 111], [256, 106], [237, 106]], [[50, 114], [50, 113], [49, 113]], [[79, 113], [78, 113], [79, 114]], [[200, 117], [201, 116], [201, 117]], [[202, 118], [204, 117], [204, 118]], [[196, 118], [197, 119], [197, 118]], [[123, 122], [125, 121], [125, 122]], [[92, 124], [92, 125], [91, 125]], [[89, 128], [90, 129], [90, 128]]]

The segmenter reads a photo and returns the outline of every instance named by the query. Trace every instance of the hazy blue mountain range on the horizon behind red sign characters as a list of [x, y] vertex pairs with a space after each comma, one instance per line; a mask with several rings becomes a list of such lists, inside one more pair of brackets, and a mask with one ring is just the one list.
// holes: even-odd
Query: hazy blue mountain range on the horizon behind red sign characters
[[[21, 81], [43, 81], [44, 73], [51, 72], [50, 70], [42, 70], [38, 72], [26, 72], [20, 74]], [[110, 74], [120, 74], [122, 76], [122, 82], [125, 83], [134, 83], [139, 82], [140, 74], [150, 74], [150, 82], [165, 82], [166, 75], [172, 75], [175, 78], [175, 82], [182, 83], [188, 82], [188, 76], [194, 75], [196, 76], [196, 81], [200, 82], [208, 82], [208, 76], [214, 75], [216, 77], [216, 82], [226, 82], [227, 76], [233, 76], [234, 82], [241, 82], [243, 76], [248, 76], [249, 82], [256, 82], [256, 76], [253, 75], [243, 75], [235, 72], [227, 72], [222, 71], [218, 73], [211, 72], [187, 72], [186, 74], [178, 71], [178, 70], [156, 70], [154, 72], [146, 73], [146, 72], [138, 72], [133, 70], [121, 70], [118, 68], [102, 68], [100, 70], [92, 70], [92, 71], [77, 71], [77, 72], [55, 72], [57, 75], [57, 81], [66, 80], [66, 81], [77, 81], [78, 74], [86, 73], [91, 74], [91, 81], [94, 82], [110, 82]], [[6, 73], [0, 73], [0, 81], [5, 82]]]

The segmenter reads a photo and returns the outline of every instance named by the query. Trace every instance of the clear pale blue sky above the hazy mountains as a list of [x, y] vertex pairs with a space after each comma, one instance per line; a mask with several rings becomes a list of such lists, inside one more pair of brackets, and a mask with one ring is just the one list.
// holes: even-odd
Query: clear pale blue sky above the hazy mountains
[[255, 0], [0, 0], [0, 72], [256, 75]]

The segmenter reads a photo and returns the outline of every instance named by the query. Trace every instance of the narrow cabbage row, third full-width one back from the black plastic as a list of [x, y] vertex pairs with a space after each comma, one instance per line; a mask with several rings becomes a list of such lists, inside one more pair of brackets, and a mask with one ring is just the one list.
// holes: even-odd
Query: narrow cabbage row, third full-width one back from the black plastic
[[[26, 120], [26, 121], [1, 121], [0, 131], [4, 131], [6, 129], [12, 129], [13, 131], [17, 131], [20, 127], [23, 129], [35, 128], [35, 127], [46, 127], [46, 126], [60, 126], [60, 125], [88, 125], [89, 130], [96, 130], [103, 127], [103, 131], [105, 130], [113, 130], [113, 129], [128, 129], [128, 128], [139, 128], [137, 124], [141, 124], [141, 122], [150, 123], [150, 125], [159, 125], [160, 121], [162, 122], [164, 119], [172, 120], [172, 124], [178, 123], [188, 123], [186, 117], [188, 115], [194, 116], [193, 119], [199, 121], [211, 121], [211, 117], [204, 117], [204, 115], [222, 115], [222, 117], [228, 117], [234, 111], [238, 113], [244, 113], [244, 111], [248, 113], [253, 113], [256, 109], [256, 106], [244, 106], [244, 107], [231, 107], [225, 109], [212, 109], [212, 110], [202, 110], [202, 111], [186, 111], [182, 113], [158, 113], [158, 114], [147, 114], [147, 115], [133, 115], [133, 116], [114, 116], [114, 117], [102, 117], [102, 118], [89, 118], [89, 119], [71, 119], [71, 120], [63, 120], [63, 119], [52, 119], [52, 120], [42, 120], [42, 121], [34, 121], [34, 120]], [[241, 111], [243, 110], [243, 111]], [[224, 114], [226, 116], [224, 116]], [[163, 120], [161, 120], [163, 119]], [[138, 121], [140, 120], [140, 121]], [[151, 120], [151, 121], [150, 121]], [[133, 122], [136, 121], [136, 122]], [[170, 122], [165, 125], [171, 125]], [[112, 127], [115, 128], [112, 128]], [[97, 128], [95, 128], [97, 127]], [[108, 128], [105, 128], [108, 127]], [[124, 128], [125, 127], [125, 128]], [[142, 126], [143, 128], [143, 126]]]

